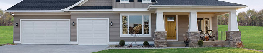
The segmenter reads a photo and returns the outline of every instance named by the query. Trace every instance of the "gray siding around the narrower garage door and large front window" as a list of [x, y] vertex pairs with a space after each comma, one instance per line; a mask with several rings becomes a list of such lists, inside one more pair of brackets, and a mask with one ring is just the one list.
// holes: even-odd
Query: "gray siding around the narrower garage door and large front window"
[[[155, 21], [156, 15], [152, 14], [152, 37], [139, 37], [136, 38], [137, 41], [153, 41], [153, 32], [155, 31]], [[120, 14], [71, 14], [71, 24], [72, 22], [77, 22], [77, 18], [109, 18], [109, 24], [112, 22], [113, 26], [109, 25], [110, 27], [110, 42], [119, 42], [120, 40], [125, 41], [134, 41], [132, 37], [120, 37]], [[71, 25], [71, 41], [76, 40], [76, 31], [77, 26]]]

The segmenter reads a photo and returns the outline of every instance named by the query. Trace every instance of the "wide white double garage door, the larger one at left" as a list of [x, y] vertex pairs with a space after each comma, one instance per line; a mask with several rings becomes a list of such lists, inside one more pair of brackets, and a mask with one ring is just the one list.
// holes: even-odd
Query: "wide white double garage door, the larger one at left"
[[69, 20], [22, 21], [22, 44], [69, 44]]

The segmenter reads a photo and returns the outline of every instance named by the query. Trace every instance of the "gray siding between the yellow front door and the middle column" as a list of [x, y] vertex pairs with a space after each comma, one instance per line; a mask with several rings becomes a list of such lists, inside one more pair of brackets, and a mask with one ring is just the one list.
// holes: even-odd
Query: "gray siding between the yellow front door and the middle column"
[[184, 41], [184, 36], [188, 31], [189, 18], [188, 15], [178, 15], [178, 41]]

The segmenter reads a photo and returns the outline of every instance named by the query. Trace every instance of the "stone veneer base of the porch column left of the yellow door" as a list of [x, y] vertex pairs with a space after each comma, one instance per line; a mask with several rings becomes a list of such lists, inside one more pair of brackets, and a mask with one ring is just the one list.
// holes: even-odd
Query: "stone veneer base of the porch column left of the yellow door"
[[167, 47], [167, 32], [155, 31], [154, 33], [154, 47]]

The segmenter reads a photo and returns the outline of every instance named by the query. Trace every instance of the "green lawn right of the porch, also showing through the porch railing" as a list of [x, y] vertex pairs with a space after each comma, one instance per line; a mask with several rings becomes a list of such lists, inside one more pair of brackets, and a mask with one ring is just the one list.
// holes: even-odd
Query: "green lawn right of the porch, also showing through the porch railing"
[[[263, 50], [263, 27], [238, 26], [244, 48]], [[227, 31], [228, 25], [218, 25], [218, 31]]]

